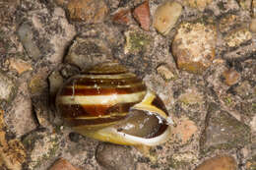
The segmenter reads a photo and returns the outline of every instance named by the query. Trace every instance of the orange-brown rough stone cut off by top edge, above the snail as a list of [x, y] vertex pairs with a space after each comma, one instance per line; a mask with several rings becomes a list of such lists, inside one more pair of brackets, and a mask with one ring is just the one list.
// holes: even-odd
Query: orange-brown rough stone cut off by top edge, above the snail
[[103, 22], [108, 8], [104, 0], [72, 0], [68, 3], [69, 17], [87, 24]]

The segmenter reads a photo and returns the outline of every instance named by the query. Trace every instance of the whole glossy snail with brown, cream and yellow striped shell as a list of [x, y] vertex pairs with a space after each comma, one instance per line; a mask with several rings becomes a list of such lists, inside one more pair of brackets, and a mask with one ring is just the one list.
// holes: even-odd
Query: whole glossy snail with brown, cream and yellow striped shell
[[56, 95], [64, 124], [102, 142], [157, 145], [170, 135], [160, 97], [118, 63], [101, 63], [70, 78]]

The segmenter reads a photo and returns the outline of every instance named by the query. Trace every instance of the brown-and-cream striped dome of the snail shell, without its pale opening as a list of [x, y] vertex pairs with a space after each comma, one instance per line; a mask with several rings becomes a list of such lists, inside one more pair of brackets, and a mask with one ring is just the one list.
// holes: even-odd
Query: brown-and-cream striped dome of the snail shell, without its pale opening
[[104, 64], [68, 80], [56, 105], [69, 126], [96, 127], [124, 118], [146, 90], [146, 85], [122, 66]]

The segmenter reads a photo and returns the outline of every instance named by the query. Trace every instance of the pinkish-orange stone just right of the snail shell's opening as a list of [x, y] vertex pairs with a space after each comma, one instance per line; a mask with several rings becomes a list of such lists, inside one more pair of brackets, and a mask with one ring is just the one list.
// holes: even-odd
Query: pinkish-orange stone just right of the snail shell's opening
[[182, 117], [176, 122], [176, 127], [172, 130], [172, 136], [176, 142], [185, 144], [189, 142], [197, 133], [198, 128], [195, 122]]

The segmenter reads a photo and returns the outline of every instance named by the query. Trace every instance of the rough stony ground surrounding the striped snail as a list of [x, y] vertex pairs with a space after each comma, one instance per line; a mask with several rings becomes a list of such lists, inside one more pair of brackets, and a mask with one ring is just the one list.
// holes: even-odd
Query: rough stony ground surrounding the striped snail
[[[155, 16], [172, 3], [0, 0], [0, 170], [255, 170], [256, 1], [175, 0], [176, 14]], [[62, 126], [58, 87], [103, 61], [160, 95], [167, 142], [138, 149]]]

